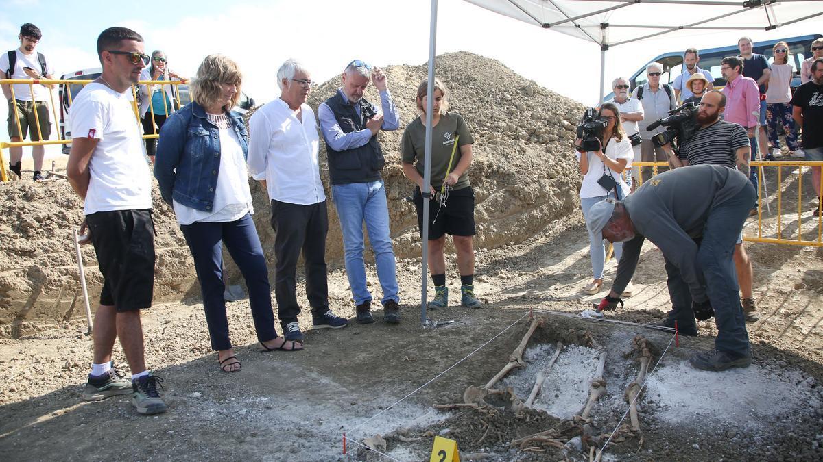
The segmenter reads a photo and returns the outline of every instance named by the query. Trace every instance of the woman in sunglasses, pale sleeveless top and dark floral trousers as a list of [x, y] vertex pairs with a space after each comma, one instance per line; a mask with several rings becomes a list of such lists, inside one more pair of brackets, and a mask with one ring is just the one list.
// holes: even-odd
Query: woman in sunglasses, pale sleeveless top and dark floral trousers
[[772, 47], [774, 62], [771, 66], [769, 88], [766, 90], [766, 125], [769, 128], [769, 141], [772, 145], [773, 157], [780, 157], [780, 140], [777, 135], [778, 124], [786, 132], [786, 144], [792, 151], [793, 157], [804, 157], [806, 154], [800, 149], [797, 142], [797, 127], [792, 118], [792, 76], [794, 68], [789, 64], [788, 44], [778, 42]]

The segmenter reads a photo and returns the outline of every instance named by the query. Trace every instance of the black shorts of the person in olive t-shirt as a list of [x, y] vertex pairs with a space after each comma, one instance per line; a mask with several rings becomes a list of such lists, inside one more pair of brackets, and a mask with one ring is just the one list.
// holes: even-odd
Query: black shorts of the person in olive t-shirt
[[[417, 226], [423, 238], [423, 196], [420, 188], [414, 190], [414, 205], [417, 209]], [[474, 236], [474, 190], [472, 187], [449, 191], [446, 204], [429, 201], [429, 240], [435, 240], [444, 234], [452, 236]]]

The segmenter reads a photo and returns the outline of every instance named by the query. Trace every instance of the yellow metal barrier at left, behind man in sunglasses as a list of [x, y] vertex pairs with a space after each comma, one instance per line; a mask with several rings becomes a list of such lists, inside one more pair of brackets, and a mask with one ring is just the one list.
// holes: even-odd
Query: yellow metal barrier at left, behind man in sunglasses
[[[25, 141], [21, 139], [21, 141], [0, 141], [0, 181], [7, 182], [8, 176], [6, 172], [6, 159], [3, 155], [3, 150], [7, 148], [15, 148], [15, 147], [22, 147], [22, 146], [47, 146], [47, 145], [70, 145], [72, 144], [72, 139], [64, 136], [61, 132], [60, 127], [58, 127], [58, 121], [65, 120], [65, 117], [68, 115], [67, 111], [68, 108], [72, 105], [72, 99], [74, 93], [72, 91], [73, 85], [88, 85], [92, 81], [91, 80], [54, 80], [54, 79], [41, 79], [41, 80], [30, 80], [30, 79], [0, 79], [0, 85], [8, 85], [9, 88], [12, 90], [12, 100], [16, 101], [16, 95], [14, 86], [15, 85], [28, 85], [30, 90], [30, 95], [35, 94], [35, 85], [44, 85], [46, 89], [49, 90], [49, 99], [44, 102], [36, 102], [33, 104], [34, 106], [34, 115], [35, 115], [35, 124], [32, 127], [31, 123], [29, 123], [30, 131], [34, 131], [36, 128], [37, 130], [37, 137], [40, 141]], [[141, 104], [142, 100], [145, 99], [148, 104], [148, 108], [146, 109], [146, 116], [151, 117], [151, 133], [143, 133], [142, 137], [144, 140], [146, 139], [154, 139], [158, 138], [160, 135], [157, 133], [157, 125], [156, 125], [156, 118], [154, 113], [154, 102], [152, 101], [151, 95], [156, 89], [156, 85], [160, 85], [160, 91], [164, 95], [163, 98], [163, 113], [165, 116], [170, 115], [173, 111], [170, 108], [169, 104], [172, 104], [174, 108], [179, 108], [180, 106], [184, 105], [184, 102], [180, 100], [180, 90], [179, 85], [186, 84], [186, 81], [138, 81], [136, 85], [132, 85], [132, 107], [134, 110], [134, 116], [136, 118], [137, 126], [140, 127], [142, 132], [142, 122], [141, 122]], [[55, 104], [54, 99], [54, 86], [58, 85], [58, 100], [59, 106]], [[165, 88], [163, 85], [173, 85], [174, 90], [171, 91], [172, 98], [168, 99], [165, 95]], [[141, 88], [142, 87], [142, 88]], [[38, 114], [37, 106], [41, 103], [46, 104], [49, 106], [49, 114], [51, 115], [52, 122], [57, 126], [57, 139], [56, 140], [43, 140], [43, 131], [40, 127], [40, 114]], [[188, 103], [188, 101], [185, 101]], [[14, 123], [17, 127], [17, 133], [22, 134], [21, 130], [21, 122], [20, 122], [20, 113], [18, 111], [12, 111], [14, 114]], [[67, 128], [67, 127], [66, 127]]]

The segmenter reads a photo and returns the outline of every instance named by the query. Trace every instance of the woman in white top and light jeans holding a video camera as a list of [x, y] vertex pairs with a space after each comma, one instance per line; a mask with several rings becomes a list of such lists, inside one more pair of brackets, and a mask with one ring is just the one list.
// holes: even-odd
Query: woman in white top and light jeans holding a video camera
[[[594, 204], [611, 197], [621, 200], [629, 194], [629, 186], [623, 179], [623, 171], [631, 166], [634, 153], [631, 149], [629, 137], [625, 135], [620, 123], [620, 109], [612, 103], [603, 104], [597, 114], [599, 119], [606, 122], [602, 136], [598, 136], [600, 147], [597, 150], [582, 151], [579, 146], [581, 140], [574, 144], [577, 148], [577, 159], [580, 173], [583, 173], [583, 185], [580, 187], [580, 206], [583, 216], [588, 221], [588, 210]], [[603, 266], [606, 261], [605, 247], [602, 236], [588, 235], [589, 257], [592, 260], [593, 281], [584, 287], [584, 293], [593, 295], [600, 291], [603, 284]], [[620, 261], [623, 251], [622, 243], [614, 243], [616, 261]], [[629, 283], [623, 297], [630, 297], [634, 288]]]

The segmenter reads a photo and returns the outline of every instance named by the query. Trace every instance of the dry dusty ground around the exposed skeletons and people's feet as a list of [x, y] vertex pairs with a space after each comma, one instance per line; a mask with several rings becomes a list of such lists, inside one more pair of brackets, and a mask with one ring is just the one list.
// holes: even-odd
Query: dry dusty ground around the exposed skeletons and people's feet
[[[786, 181], [790, 191], [793, 180]], [[804, 202], [803, 208], [810, 207]], [[753, 221], [747, 233], [753, 233]], [[783, 226], [797, 224], [786, 215]], [[385, 325], [378, 313], [372, 326], [309, 332], [302, 353], [258, 353], [246, 302], [230, 303], [231, 335], [243, 362], [237, 374], [219, 371], [197, 298], [157, 304], [145, 312], [146, 356], [165, 380], [170, 409], [156, 417], [138, 416], [126, 398], [81, 403], [91, 362], [91, 339], [81, 319], [0, 340], [0, 460], [380, 460], [353, 441], [343, 456], [342, 432], [355, 441], [382, 434], [395, 460], [428, 459], [436, 434], [456, 439], [464, 455], [495, 454], [491, 460], [588, 460], [588, 448], [602, 447], [602, 435], [625, 413], [623, 391], [637, 369], [630, 349], [635, 335], [653, 343], [655, 362], [667, 353], [641, 398], [641, 432], [621, 432], [607, 455], [619, 460], [821, 460], [821, 249], [762, 243], [747, 248], [755, 263], [761, 319], [748, 326], [755, 363], [746, 370], [711, 374], [688, 366], [691, 352], [710, 348], [710, 322], [701, 323], [699, 338], [681, 339], [679, 348], [667, 349], [671, 336], [658, 330], [546, 315], [529, 343], [528, 367], [504, 379], [503, 386], [519, 396], [528, 395], [534, 372], [564, 332], [587, 332], [596, 340], [594, 345], [565, 344], [556, 375], [537, 400], [536, 408], [547, 413], [515, 415], [502, 405], [484, 413], [435, 411], [431, 404], [459, 402], [467, 386], [481, 386], [500, 370], [527, 328], [524, 315], [530, 309], [576, 315], [602, 297], [579, 293], [590, 277], [588, 241], [582, 220], [567, 219], [529, 243], [479, 252], [477, 293], [486, 307], [468, 311], [455, 306], [453, 298], [452, 307], [430, 313], [432, 319], [454, 321], [447, 326], [421, 327], [416, 307], [420, 261], [413, 259], [398, 262], [401, 325]], [[607, 284], [613, 271], [610, 263]], [[637, 293], [611, 318], [658, 321], [668, 309], [664, 278], [662, 256], [647, 244], [635, 275]], [[373, 268], [370, 281], [379, 297]], [[449, 285], [458, 293], [454, 277]], [[342, 270], [332, 271], [329, 286], [332, 309], [353, 316]], [[300, 321], [308, 327], [310, 317], [304, 313]], [[586, 399], [600, 349], [609, 352], [607, 395], [595, 406], [593, 422], [570, 426], [567, 418]], [[115, 361], [124, 367], [119, 351]], [[537, 445], [537, 452], [509, 446], [518, 437], [556, 427], [566, 440], [583, 436], [581, 450], [574, 444], [567, 449]]]

